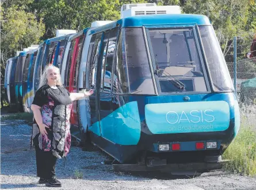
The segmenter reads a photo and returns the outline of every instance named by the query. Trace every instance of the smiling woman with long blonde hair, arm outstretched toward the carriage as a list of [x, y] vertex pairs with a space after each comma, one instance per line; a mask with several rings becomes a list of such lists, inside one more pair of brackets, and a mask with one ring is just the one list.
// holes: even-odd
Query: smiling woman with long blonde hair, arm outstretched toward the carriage
[[31, 105], [34, 113], [32, 141], [36, 148], [39, 183], [61, 187], [55, 178], [56, 160], [67, 156], [70, 149], [70, 110], [72, 101], [90, 96], [93, 91], [69, 93], [60, 80], [59, 68], [47, 66]]

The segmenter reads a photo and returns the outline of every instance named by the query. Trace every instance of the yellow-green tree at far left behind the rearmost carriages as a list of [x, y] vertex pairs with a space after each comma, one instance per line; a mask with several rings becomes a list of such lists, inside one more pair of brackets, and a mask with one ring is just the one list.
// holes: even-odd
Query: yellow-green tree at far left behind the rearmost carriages
[[6, 60], [15, 57], [16, 51], [40, 42], [44, 25], [35, 15], [26, 13], [25, 7], [11, 6], [2, 9], [1, 20], [1, 79], [5, 73]]

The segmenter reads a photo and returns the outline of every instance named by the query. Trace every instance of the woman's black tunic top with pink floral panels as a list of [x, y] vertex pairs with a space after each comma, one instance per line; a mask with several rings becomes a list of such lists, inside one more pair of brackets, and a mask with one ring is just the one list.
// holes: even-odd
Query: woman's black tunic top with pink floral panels
[[53, 155], [62, 158], [67, 156], [71, 144], [70, 111], [72, 102], [70, 93], [63, 86], [52, 89], [42, 86], [37, 90], [32, 104], [41, 107], [43, 123], [49, 126], [47, 135], [40, 133], [36, 120], [33, 121], [33, 144], [43, 151], [52, 151]]

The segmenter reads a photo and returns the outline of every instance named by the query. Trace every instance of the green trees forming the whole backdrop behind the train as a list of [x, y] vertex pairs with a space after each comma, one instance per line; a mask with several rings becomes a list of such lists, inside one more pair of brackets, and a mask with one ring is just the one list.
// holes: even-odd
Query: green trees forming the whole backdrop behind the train
[[246, 44], [238, 46], [240, 56], [250, 51], [256, 30], [255, 0], [6, 0], [1, 3], [1, 77], [7, 58], [38, 43], [40, 37], [52, 38], [58, 29], [80, 31], [97, 20], [114, 21], [120, 18], [123, 4], [147, 2], [179, 5], [182, 13], [207, 15], [227, 61], [232, 61], [234, 36], [238, 45]]

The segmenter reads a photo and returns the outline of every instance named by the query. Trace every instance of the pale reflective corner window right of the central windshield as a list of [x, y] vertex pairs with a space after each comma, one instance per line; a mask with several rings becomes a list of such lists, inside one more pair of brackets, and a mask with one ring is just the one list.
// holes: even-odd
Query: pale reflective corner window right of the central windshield
[[225, 90], [234, 91], [230, 73], [228, 72], [228, 68], [213, 27], [199, 26], [199, 31], [212, 78], [213, 90], [216, 92]]

